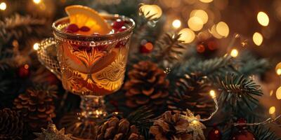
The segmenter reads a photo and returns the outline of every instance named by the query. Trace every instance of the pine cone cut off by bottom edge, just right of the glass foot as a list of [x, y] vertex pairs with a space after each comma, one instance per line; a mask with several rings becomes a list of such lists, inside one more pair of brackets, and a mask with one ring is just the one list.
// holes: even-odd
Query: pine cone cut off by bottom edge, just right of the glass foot
[[126, 119], [110, 118], [98, 127], [97, 140], [144, 140], [138, 134], [136, 125], [130, 125]]

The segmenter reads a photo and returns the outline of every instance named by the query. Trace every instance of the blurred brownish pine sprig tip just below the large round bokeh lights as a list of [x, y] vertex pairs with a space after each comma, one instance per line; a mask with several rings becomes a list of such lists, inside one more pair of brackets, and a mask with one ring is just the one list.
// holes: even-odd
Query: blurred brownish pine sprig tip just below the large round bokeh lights
[[156, 42], [155, 58], [166, 60], [171, 64], [178, 62], [185, 52], [185, 45], [178, 41], [180, 34], [166, 33]]

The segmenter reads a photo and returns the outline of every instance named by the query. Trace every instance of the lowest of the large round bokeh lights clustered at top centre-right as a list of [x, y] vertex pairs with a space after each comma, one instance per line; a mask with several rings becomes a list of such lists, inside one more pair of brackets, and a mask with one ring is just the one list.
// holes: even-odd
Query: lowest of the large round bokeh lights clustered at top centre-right
[[191, 43], [195, 39], [195, 33], [188, 28], [181, 29], [178, 34], [181, 34], [178, 41], [182, 41], [183, 43]]

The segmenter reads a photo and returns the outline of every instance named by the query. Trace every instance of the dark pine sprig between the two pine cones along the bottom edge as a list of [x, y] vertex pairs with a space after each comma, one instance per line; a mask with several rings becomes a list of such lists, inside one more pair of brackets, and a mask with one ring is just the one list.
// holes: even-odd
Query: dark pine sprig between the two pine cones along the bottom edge
[[152, 110], [146, 106], [143, 106], [130, 113], [127, 119], [131, 124], [138, 127], [138, 130], [140, 130], [145, 139], [148, 139], [150, 137], [150, 126], [152, 125], [152, 121], [150, 120], [152, 120], [153, 116]]

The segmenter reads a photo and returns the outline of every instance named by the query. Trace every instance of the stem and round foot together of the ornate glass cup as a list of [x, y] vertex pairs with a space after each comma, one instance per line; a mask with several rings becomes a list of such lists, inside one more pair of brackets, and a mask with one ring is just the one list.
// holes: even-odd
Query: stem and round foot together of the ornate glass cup
[[65, 127], [65, 132], [72, 134], [72, 139], [96, 139], [98, 123], [107, 115], [103, 97], [81, 97], [80, 109], [63, 116], [60, 127]]

